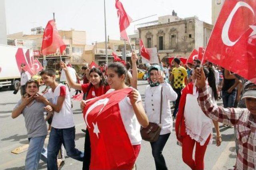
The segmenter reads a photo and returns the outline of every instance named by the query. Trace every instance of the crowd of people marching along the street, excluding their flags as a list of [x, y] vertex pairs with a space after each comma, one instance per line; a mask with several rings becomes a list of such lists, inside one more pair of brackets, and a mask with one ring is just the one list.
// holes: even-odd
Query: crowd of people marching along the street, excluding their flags
[[[147, 128], [150, 123], [156, 123], [160, 124], [161, 129], [156, 139], [149, 141], [152, 156], [157, 170], [167, 170], [162, 151], [172, 132], [174, 119], [177, 141], [182, 146], [181, 159], [192, 170], [204, 169], [204, 154], [207, 146], [212, 143], [213, 127], [216, 129], [216, 145], [221, 145], [218, 122], [230, 128], [234, 127], [238, 155], [234, 168], [256, 168], [253, 159], [256, 129], [255, 84], [208, 61], [201, 64], [200, 60], [195, 59], [194, 63], [185, 64], [176, 57], [171, 63], [147, 65], [148, 86], [145, 89], [143, 104], [137, 90], [137, 60], [138, 57], [133, 54], [131, 64], [116, 62], [99, 68], [83, 66], [83, 84], [80, 84], [79, 76], [78, 81], [74, 82], [68, 66], [60, 62], [60, 67], [66, 74], [66, 84], [78, 90], [76, 95], [81, 95], [78, 92], [83, 93], [80, 103], [82, 111], [94, 98], [131, 88], [131, 92], [118, 106], [120, 119], [135, 157], [129, 163], [117, 165], [116, 169], [135, 168], [134, 162], [138, 158], [142, 141], [141, 127]], [[40, 72], [40, 76], [48, 89], [40, 94], [39, 83], [26, 74], [24, 64], [21, 68], [22, 98], [14, 107], [12, 118], [22, 114], [25, 119], [29, 141], [25, 168], [37, 169], [38, 162], [42, 159], [47, 163], [49, 170], [57, 170], [64, 161], [65, 149], [67, 156], [83, 162], [81, 168], [90, 169], [93, 154], [90, 135], [95, 134], [90, 134], [86, 128], [82, 129], [85, 133], [84, 150], [76, 149], [76, 129], [69, 88], [56, 80], [55, 70], [46, 69]], [[220, 98], [223, 107], [217, 106], [217, 100]], [[174, 111], [171, 111], [171, 108]], [[44, 112], [47, 112], [46, 117]], [[46, 121], [50, 125], [48, 129]], [[46, 149], [44, 141], [48, 130], [50, 136]]]

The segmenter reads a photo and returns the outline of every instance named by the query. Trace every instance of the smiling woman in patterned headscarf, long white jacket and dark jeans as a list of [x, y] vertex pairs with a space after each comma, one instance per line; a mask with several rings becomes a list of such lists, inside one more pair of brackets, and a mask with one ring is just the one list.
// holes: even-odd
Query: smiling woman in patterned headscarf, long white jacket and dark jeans
[[159, 65], [152, 65], [148, 68], [149, 85], [145, 90], [145, 111], [150, 122], [160, 122], [160, 100], [162, 88], [162, 129], [156, 142], [150, 142], [152, 155], [155, 160], [156, 170], [166, 170], [167, 166], [162, 155], [164, 145], [172, 132], [172, 113], [170, 101], [177, 99], [170, 84], [164, 81], [164, 74]]

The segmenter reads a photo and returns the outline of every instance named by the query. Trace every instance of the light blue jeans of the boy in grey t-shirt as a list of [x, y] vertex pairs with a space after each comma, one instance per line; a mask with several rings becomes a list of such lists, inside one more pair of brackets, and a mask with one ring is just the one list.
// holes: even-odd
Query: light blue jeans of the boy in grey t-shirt
[[39, 160], [47, 162], [47, 150], [44, 149], [46, 136], [28, 138], [29, 147], [25, 160], [26, 170], [37, 170]]

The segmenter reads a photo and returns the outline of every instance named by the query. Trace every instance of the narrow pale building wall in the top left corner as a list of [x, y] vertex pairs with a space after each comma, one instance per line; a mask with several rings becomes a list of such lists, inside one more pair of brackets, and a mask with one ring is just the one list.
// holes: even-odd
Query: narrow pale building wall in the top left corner
[[5, 2], [0, 0], [0, 44], [7, 45]]

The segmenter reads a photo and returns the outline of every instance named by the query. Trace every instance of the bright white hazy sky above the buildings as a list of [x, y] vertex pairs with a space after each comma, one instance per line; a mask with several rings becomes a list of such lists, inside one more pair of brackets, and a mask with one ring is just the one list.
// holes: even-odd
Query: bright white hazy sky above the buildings
[[[175, 10], [178, 17], [197, 16], [199, 20], [212, 22], [212, 0], [120, 0], [132, 20], [126, 29], [134, 34], [134, 25], [158, 20], [159, 16], [171, 15]], [[104, 0], [5, 0], [7, 34], [23, 31], [30, 34], [33, 27], [45, 27], [55, 12], [58, 30], [86, 31], [86, 44], [105, 41]], [[120, 39], [115, 0], [106, 0], [106, 29], [110, 39]]]

